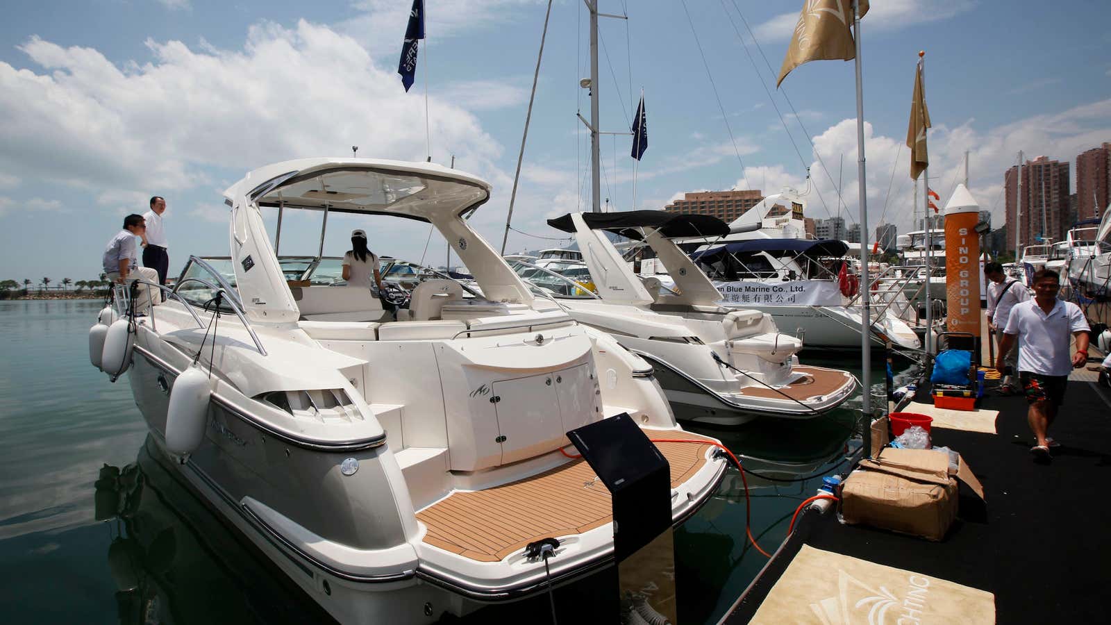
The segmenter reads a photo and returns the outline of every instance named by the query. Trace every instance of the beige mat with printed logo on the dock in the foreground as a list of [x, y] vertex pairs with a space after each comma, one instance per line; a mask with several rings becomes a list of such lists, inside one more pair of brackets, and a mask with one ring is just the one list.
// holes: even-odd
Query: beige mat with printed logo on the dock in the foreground
[[894, 625], [995, 622], [995, 596], [803, 545], [751, 623]]

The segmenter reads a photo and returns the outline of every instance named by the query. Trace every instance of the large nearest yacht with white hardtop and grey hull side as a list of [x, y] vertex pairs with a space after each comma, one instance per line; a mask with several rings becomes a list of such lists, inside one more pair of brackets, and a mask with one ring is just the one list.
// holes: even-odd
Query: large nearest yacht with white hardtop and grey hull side
[[[127, 371], [161, 453], [338, 621], [431, 623], [611, 565], [610, 496], [563, 450], [564, 433], [603, 417], [695, 440], [657, 445], [675, 524], [714, 493], [715, 442], [680, 433], [652, 368], [554, 304], [538, 309], [463, 219], [489, 199], [486, 181], [312, 158], [224, 196], [230, 258], [191, 257], [146, 315], [117, 289], [90, 358], [113, 380]], [[332, 212], [430, 222], [484, 297], [426, 279], [392, 320], [364, 288], [287, 272], [263, 208], [278, 211], [276, 239], [284, 211], [318, 211], [321, 250]], [[559, 540], [550, 574], [524, 554], [547, 537]]]

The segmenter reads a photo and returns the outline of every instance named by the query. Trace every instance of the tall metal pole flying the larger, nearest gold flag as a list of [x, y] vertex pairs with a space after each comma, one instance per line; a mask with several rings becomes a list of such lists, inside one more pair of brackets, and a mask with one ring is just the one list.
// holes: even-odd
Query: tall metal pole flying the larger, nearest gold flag
[[854, 13], [853, 32], [857, 44], [857, 177], [859, 178], [860, 191], [860, 384], [861, 389], [861, 438], [863, 439], [864, 455], [872, 455], [872, 436], [870, 433], [872, 425], [872, 321], [871, 321], [871, 298], [872, 285], [868, 278], [868, 192], [864, 188], [864, 89], [861, 80], [860, 69], [860, 2], [852, 0]]

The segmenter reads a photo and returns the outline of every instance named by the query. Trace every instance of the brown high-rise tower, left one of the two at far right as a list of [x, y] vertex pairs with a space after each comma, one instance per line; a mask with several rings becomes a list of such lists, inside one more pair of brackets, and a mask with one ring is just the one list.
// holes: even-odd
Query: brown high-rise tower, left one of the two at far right
[[[1069, 163], [1038, 157], [1022, 165], [1022, 197], [1018, 197], [1018, 166], [1007, 170], [1007, 241], [1010, 249], [1031, 245], [1039, 238], [1064, 238], [1069, 228]], [[1021, 215], [1015, 219], [1015, 207]]]

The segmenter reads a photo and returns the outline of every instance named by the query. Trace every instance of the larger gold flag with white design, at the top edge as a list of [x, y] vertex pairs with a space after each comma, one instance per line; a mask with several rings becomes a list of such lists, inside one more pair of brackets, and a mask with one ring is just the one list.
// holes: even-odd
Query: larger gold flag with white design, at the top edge
[[[859, 2], [860, 17], [864, 17], [868, 0]], [[850, 32], [853, 20], [852, 0], [805, 0], [791, 36], [791, 44], [787, 47], [775, 88], [792, 69], [804, 62], [857, 58], [857, 44]]]

